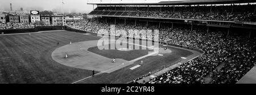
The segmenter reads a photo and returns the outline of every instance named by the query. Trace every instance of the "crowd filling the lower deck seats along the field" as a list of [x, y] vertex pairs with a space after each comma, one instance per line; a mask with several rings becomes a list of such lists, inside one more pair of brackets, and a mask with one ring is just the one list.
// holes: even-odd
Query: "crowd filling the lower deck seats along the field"
[[[76, 23], [68, 23], [70, 27], [84, 31], [98, 33], [100, 30], [107, 30], [103, 34], [116, 35], [117, 32], [111, 32], [110, 26], [113, 22], [105, 23], [104, 20], [85, 19]], [[191, 31], [186, 27], [171, 28], [170, 25], [158, 27], [157, 24], [138, 22], [137, 26], [128, 21], [126, 25], [122, 22], [115, 24], [115, 30], [125, 30], [127, 35], [133, 38], [153, 39], [152, 36], [142, 36], [144, 32], [140, 30], [159, 29], [159, 40], [180, 46], [195, 47], [203, 50], [205, 53], [196, 59], [187, 61], [179, 67], [172, 69], [151, 79], [150, 84], [170, 83], [170, 84], [196, 84], [204, 83], [204, 77], [212, 77], [210, 83], [235, 83], [249, 69], [255, 65], [256, 53], [251, 48], [253, 43], [245, 43], [248, 39], [229, 36], [221, 32], [205, 32], [201, 28]], [[128, 34], [128, 30], [139, 30], [134, 34]], [[154, 35], [155, 31], [152, 31]], [[102, 32], [101, 32], [102, 33]], [[218, 65], [225, 63], [220, 71], [216, 70]], [[139, 79], [135, 79], [137, 81]]]

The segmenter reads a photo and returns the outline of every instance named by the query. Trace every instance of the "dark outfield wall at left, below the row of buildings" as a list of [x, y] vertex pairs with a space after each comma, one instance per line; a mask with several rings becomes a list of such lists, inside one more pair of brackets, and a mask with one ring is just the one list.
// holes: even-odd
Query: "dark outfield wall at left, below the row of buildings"
[[0, 35], [1, 34], [17, 34], [17, 33], [26, 33], [26, 32], [48, 31], [48, 30], [63, 30], [63, 26], [37, 26], [35, 28], [7, 29], [7, 30], [0, 30]]

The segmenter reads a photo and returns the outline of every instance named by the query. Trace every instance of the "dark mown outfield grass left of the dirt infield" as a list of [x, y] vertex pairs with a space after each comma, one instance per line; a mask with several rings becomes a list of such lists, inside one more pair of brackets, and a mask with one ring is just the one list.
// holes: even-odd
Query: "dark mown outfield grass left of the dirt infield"
[[0, 36], [0, 83], [71, 83], [90, 76], [92, 71], [56, 63], [51, 53], [70, 41], [97, 39], [68, 31]]

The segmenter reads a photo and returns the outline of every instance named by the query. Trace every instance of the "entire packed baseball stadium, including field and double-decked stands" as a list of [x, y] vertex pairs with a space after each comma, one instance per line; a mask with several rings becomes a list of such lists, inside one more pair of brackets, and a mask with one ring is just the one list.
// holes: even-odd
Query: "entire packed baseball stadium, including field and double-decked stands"
[[75, 20], [1, 13], [0, 83], [256, 83], [253, 0], [87, 4]]

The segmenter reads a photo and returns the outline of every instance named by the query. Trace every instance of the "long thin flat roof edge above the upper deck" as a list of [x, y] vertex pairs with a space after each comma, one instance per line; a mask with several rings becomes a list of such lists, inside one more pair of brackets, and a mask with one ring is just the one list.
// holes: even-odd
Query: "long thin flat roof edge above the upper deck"
[[88, 3], [89, 5], [209, 5], [230, 3], [252, 3], [255, 0], [184, 0], [184, 1], [161, 1], [158, 3]]

